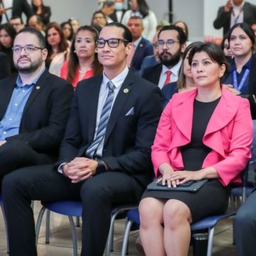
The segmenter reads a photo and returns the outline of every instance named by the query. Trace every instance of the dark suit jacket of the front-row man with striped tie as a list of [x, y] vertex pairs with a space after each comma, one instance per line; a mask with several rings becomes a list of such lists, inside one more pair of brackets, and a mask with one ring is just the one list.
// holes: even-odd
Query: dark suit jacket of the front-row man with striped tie
[[[78, 83], [56, 166], [76, 156], [85, 156], [95, 135], [101, 83], [102, 75]], [[127, 115], [132, 108], [134, 111]], [[154, 174], [151, 146], [161, 110], [159, 88], [129, 70], [112, 107], [102, 160], [109, 166], [109, 171], [133, 176], [142, 188]]]

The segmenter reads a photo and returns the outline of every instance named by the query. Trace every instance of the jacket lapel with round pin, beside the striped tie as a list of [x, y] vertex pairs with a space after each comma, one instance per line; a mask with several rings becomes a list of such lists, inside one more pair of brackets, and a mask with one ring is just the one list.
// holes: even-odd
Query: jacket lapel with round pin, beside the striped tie
[[129, 70], [127, 77], [125, 78], [123, 84], [121, 85], [117, 98], [114, 100], [114, 105], [112, 107], [110, 119], [107, 124], [107, 131], [106, 131], [104, 143], [107, 142], [108, 137], [110, 137], [110, 134], [114, 129], [114, 125], [116, 124], [117, 119], [119, 118], [120, 112], [122, 111], [122, 108], [124, 107], [124, 104], [132, 91], [133, 83], [134, 83], [134, 78], [132, 75], [132, 71]]

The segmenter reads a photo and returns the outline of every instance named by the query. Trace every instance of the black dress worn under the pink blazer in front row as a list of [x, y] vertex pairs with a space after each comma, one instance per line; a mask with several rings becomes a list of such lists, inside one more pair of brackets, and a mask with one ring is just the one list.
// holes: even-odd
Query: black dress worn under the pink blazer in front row
[[[191, 142], [181, 147], [184, 170], [197, 171], [211, 151], [203, 144], [203, 135], [210, 117], [220, 98], [213, 102], [194, 101]], [[192, 220], [200, 220], [209, 215], [224, 213], [228, 208], [230, 187], [223, 186], [217, 179], [211, 179], [196, 193], [183, 191], [145, 191], [142, 198], [153, 197], [176, 199], [185, 203], [191, 210]]]

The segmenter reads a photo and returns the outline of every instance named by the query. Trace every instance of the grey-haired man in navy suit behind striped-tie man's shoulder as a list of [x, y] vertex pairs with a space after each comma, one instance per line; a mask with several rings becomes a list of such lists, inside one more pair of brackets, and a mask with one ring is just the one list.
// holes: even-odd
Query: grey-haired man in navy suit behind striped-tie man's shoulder
[[144, 58], [154, 53], [153, 44], [142, 37], [144, 30], [142, 18], [132, 16], [129, 18], [127, 27], [132, 33], [132, 43], [134, 46], [131, 56], [127, 58], [127, 64], [135, 73], [139, 73]]

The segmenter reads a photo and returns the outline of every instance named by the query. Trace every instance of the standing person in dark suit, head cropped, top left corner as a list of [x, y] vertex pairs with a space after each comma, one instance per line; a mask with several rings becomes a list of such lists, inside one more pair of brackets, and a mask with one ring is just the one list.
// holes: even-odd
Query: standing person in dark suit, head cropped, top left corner
[[[9, 10], [6, 11], [6, 9]], [[9, 2], [0, 0], [0, 23], [6, 23], [12, 16], [21, 17], [23, 13], [26, 14], [27, 19], [33, 15], [27, 0], [13, 0], [11, 6], [9, 6]]]

